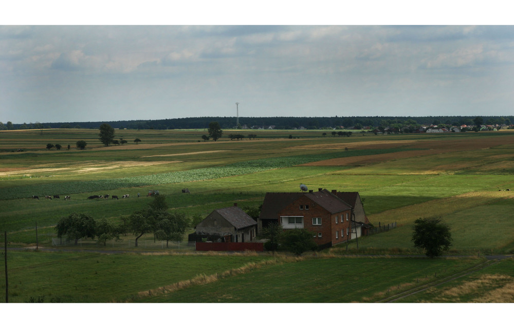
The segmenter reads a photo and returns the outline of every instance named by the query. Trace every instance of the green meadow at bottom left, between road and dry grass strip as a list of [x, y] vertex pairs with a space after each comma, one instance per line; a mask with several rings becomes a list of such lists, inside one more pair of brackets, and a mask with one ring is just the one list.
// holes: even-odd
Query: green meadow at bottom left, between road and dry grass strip
[[[125, 302], [138, 293], [265, 258], [180, 254], [9, 252], [9, 302]], [[120, 279], [122, 277], [122, 279]], [[0, 275], [5, 288], [4, 272]], [[0, 302], [5, 301], [5, 293]]]

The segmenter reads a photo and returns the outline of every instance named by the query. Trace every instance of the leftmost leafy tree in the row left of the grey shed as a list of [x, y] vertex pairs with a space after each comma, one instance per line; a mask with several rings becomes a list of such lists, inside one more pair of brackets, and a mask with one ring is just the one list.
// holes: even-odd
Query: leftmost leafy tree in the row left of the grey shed
[[61, 218], [55, 229], [57, 237], [67, 236], [75, 239], [75, 245], [77, 245], [80, 238], [95, 238], [96, 222], [85, 214], [72, 213], [67, 217]]

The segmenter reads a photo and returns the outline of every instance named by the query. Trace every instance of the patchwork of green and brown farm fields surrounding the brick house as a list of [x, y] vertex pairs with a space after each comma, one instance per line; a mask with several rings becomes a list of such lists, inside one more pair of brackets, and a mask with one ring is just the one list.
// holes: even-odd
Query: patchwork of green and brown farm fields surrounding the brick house
[[[514, 131], [351, 137], [323, 132], [231, 130], [204, 142], [205, 130], [116, 130], [115, 137], [128, 142], [104, 147], [94, 129], [0, 131], [0, 230], [7, 231], [10, 247], [9, 301], [377, 302], [393, 291], [463, 272], [485, 262], [486, 255], [514, 254], [514, 191], [508, 190], [514, 190]], [[229, 133], [257, 137], [236, 141], [225, 137]], [[133, 142], [136, 138], [141, 142]], [[79, 140], [87, 142], [84, 150], [75, 147]], [[48, 150], [48, 143], [62, 148]], [[374, 226], [396, 228], [301, 259], [267, 253], [199, 256], [187, 236], [168, 248], [151, 234], [141, 237], [137, 248], [130, 234], [105, 246], [90, 239], [78, 246], [52, 245], [60, 218], [84, 213], [119, 222], [149, 204], [148, 190], [166, 196], [170, 211], [199, 222], [233, 203], [257, 207], [267, 191], [300, 191], [301, 183], [315, 190], [358, 191]], [[87, 199], [106, 194], [120, 199]], [[122, 199], [125, 194], [130, 197]], [[412, 226], [428, 217], [450, 225], [453, 257], [394, 258], [422, 255], [412, 245]], [[40, 250], [33, 252], [36, 225]], [[55, 249], [61, 252], [50, 252]], [[402, 301], [511, 302], [512, 262], [498, 260]], [[188, 269], [175, 271], [183, 267]], [[237, 274], [227, 275], [231, 270]], [[283, 278], [299, 273], [310, 278], [302, 284]], [[378, 279], [380, 273], [389, 278]], [[352, 277], [350, 290], [348, 281], [338, 281], [341, 275]], [[86, 276], [94, 279], [83, 282]], [[119, 288], [112, 279], [121, 279]], [[475, 280], [480, 283], [473, 285]], [[177, 282], [179, 288], [173, 287]], [[245, 295], [238, 293], [242, 285]], [[470, 292], [455, 292], [464, 286]], [[318, 295], [306, 292], [313, 290]]]

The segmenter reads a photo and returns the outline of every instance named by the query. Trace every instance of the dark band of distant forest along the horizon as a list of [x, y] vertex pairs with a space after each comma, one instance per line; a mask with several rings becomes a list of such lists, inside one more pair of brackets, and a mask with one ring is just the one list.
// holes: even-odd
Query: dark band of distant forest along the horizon
[[[247, 128], [267, 128], [273, 126], [274, 129], [323, 129], [344, 126], [345, 128], [367, 128], [367, 127], [387, 127], [391, 125], [409, 126], [430, 126], [444, 124], [447, 126], [473, 125], [476, 116], [425, 116], [425, 117], [240, 117], [239, 123]], [[485, 125], [506, 124], [514, 122], [514, 116], [482, 116]], [[236, 127], [235, 117], [199, 117], [165, 120], [145, 120], [145, 121], [100, 121], [100, 122], [69, 122], [69, 123], [23, 123], [13, 124], [0, 122], [0, 129], [40, 129], [40, 128], [82, 128], [98, 129], [101, 124], [107, 123], [115, 129], [206, 129], [210, 122], [218, 122], [222, 129]]]

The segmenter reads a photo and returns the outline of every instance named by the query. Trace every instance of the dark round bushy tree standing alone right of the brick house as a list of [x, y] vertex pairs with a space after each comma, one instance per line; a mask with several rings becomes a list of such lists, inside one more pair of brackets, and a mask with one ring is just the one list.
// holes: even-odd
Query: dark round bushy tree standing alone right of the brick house
[[428, 257], [441, 256], [452, 244], [450, 227], [439, 218], [419, 218], [414, 221], [412, 241]]

